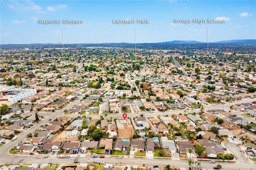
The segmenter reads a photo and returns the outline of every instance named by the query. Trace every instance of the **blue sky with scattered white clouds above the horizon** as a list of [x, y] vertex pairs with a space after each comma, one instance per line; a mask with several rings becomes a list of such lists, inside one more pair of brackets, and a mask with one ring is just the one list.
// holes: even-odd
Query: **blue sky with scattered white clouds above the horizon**
[[[0, 44], [134, 43], [256, 39], [256, 1], [244, 0], [1, 0]], [[114, 24], [113, 20], [150, 23]], [[174, 20], [192, 23], [174, 23]], [[206, 23], [193, 23], [204, 19]], [[225, 23], [207, 23], [225, 19]], [[38, 20], [61, 20], [40, 24]], [[82, 20], [83, 24], [64, 24]]]

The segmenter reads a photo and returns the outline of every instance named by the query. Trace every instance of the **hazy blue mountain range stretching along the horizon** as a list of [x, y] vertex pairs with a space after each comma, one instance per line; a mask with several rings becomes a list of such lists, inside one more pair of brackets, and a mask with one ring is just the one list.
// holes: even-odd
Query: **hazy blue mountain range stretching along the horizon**
[[[200, 41], [186, 41], [186, 40], [175, 40], [175, 41], [166, 41], [159, 43], [136, 43], [137, 45], [177, 45], [177, 44], [206, 44], [207, 42]], [[209, 44], [243, 44], [243, 45], [255, 45], [256, 39], [236, 39], [236, 40], [226, 40], [226, 41], [216, 41], [216, 42], [208, 42]], [[74, 43], [74, 44], [64, 44], [66, 47], [74, 47], [74, 46], [90, 46], [90, 45], [133, 45], [134, 43]], [[61, 48], [61, 44], [52, 44], [52, 43], [34, 43], [34, 44], [1, 44], [1, 48], [5, 47], [59, 47]]]

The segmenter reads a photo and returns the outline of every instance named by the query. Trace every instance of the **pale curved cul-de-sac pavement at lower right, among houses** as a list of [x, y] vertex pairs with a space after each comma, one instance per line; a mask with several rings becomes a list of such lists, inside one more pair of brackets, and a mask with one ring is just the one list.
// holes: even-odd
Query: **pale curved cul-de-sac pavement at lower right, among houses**
[[233, 143], [233, 142], [227, 142], [227, 143], [224, 143], [224, 145], [228, 150], [232, 150], [232, 154], [234, 154], [236, 156], [238, 162], [248, 163], [248, 160], [245, 158], [239, 145], [237, 145], [236, 143]]

